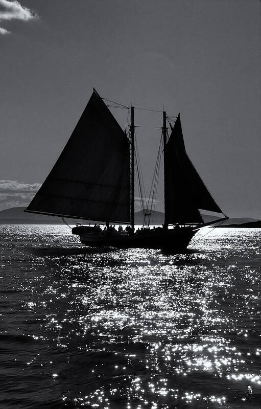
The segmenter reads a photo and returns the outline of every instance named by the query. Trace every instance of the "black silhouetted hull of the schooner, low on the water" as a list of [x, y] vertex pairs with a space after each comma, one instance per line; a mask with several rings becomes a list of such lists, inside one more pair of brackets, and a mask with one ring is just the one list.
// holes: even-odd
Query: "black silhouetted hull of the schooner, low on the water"
[[178, 229], [155, 229], [141, 231], [132, 235], [118, 232], [88, 232], [84, 226], [73, 229], [73, 234], [79, 236], [82, 244], [91, 247], [116, 248], [155, 248], [171, 252], [181, 252], [186, 249], [197, 228], [184, 227]]

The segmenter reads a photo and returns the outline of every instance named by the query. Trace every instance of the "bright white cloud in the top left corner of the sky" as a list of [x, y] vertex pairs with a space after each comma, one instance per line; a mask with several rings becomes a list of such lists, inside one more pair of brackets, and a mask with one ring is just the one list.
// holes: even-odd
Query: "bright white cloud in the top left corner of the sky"
[[[39, 18], [37, 13], [27, 7], [23, 7], [16, 0], [0, 0], [0, 22], [7, 20], [29, 21]], [[11, 32], [0, 27], [0, 34], [10, 34]]]

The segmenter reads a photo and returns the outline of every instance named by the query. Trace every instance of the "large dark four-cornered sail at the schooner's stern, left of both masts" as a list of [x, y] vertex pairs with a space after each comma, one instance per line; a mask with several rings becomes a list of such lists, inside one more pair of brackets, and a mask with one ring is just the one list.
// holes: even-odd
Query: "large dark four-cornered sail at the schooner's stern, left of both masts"
[[26, 211], [130, 222], [129, 140], [96, 91]]

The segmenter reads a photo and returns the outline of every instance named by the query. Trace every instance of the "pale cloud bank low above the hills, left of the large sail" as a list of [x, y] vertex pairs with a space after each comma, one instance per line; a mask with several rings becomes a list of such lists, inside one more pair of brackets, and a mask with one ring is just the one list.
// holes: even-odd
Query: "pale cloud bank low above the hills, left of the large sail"
[[40, 183], [0, 180], [0, 210], [29, 205], [40, 186]]

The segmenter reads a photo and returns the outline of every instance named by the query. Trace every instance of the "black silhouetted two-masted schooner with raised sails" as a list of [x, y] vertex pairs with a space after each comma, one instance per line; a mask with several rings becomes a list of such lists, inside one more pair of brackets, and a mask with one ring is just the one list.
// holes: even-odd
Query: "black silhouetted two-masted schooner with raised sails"
[[[200, 228], [226, 220], [189, 159], [180, 114], [170, 137], [163, 111], [164, 223], [135, 231], [134, 106], [130, 137], [95, 89], [53, 169], [25, 212], [106, 223], [77, 225], [72, 233], [87, 246], [161, 248], [181, 252]], [[169, 137], [169, 138], [168, 138]], [[217, 212], [204, 223], [200, 210]], [[149, 213], [145, 213], [148, 215]], [[129, 224], [117, 232], [110, 224]]]

